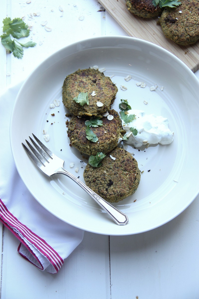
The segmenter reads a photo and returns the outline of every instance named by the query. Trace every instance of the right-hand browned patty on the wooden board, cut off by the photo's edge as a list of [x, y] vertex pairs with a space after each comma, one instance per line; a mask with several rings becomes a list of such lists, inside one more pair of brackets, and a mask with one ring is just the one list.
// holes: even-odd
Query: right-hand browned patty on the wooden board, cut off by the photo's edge
[[179, 45], [199, 40], [199, 0], [183, 0], [178, 7], [165, 7], [160, 17], [164, 35]]

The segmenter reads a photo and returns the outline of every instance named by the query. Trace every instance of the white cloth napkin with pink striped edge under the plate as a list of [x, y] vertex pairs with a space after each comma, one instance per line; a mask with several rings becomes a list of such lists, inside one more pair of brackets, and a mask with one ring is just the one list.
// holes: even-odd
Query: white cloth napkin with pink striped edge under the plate
[[56, 273], [84, 231], [45, 210], [21, 180], [10, 148], [10, 116], [21, 84], [0, 96], [0, 220], [19, 239], [18, 253], [41, 270]]

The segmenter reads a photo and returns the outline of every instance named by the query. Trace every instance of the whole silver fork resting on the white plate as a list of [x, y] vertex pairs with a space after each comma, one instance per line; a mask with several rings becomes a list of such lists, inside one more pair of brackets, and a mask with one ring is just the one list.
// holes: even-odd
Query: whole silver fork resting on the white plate
[[[32, 133], [33, 134], [33, 133]], [[87, 187], [82, 181], [73, 176], [72, 173], [68, 172], [64, 169], [64, 160], [57, 157], [53, 152], [50, 151], [34, 134], [33, 137], [37, 141], [38, 144], [29, 136], [30, 141], [34, 145], [34, 147], [30, 144], [29, 141], [26, 140], [27, 145], [30, 150], [22, 143], [25, 151], [31, 158], [31, 160], [36, 164], [36, 166], [42, 170], [47, 176], [53, 176], [56, 173], [64, 174], [69, 177], [75, 183], [77, 183], [82, 189], [84, 189], [94, 200], [97, 202], [101, 208], [103, 208], [109, 216], [118, 224], [118, 225], [126, 225], [129, 221], [127, 215], [113, 207], [109, 202], [105, 201], [102, 197], [92, 191], [89, 187]], [[37, 149], [37, 150], [36, 150]], [[33, 155], [34, 154], [34, 155]]]

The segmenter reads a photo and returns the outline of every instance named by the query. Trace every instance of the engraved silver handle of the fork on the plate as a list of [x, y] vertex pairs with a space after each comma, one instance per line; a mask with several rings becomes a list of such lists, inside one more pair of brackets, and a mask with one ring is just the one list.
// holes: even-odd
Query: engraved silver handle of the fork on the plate
[[126, 225], [129, 221], [127, 215], [113, 207], [109, 202], [105, 201], [101, 196], [99, 196], [97, 193], [92, 191], [89, 187], [87, 187], [82, 181], [80, 181], [78, 178], [73, 176], [72, 173], [65, 170], [63, 167], [61, 167], [62, 170], [58, 170], [56, 173], [64, 174], [65, 176], [68, 176], [70, 179], [75, 181], [82, 189], [84, 189], [97, 203], [101, 206], [108, 214], [111, 216], [111, 218], [118, 224], [118, 225]]

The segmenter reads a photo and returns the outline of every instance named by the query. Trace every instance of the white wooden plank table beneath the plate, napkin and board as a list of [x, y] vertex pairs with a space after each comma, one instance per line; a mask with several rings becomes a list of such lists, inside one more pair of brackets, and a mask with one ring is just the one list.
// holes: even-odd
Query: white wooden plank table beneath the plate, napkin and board
[[[1, 1], [0, 20], [24, 17], [37, 43], [24, 50], [22, 60], [6, 55], [0, 45], [1, 90], [26, 79], [66, 45], [101, 35], [127, 35], [107, 12], [99, 11], [97, 0], [27, 2]], [[52, 31], [41, 26], [43, 21]], [[199, 71], [196, 75], [199, 78]], [[178, 217], [146, 233], [109, 237], [85, 232], [57, 274], [25, 261], [17, 253], [18, 240], [1, 229], [1, 299], [199, 298], [199, 197]]]

